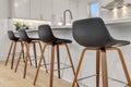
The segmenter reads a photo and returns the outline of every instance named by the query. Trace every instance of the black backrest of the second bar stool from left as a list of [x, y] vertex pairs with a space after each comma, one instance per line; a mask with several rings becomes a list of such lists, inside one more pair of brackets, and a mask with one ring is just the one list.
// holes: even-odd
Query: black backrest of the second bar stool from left
[[25, 32], [24, 28], [21, 28], [21, 29], [19, 30], [19, 36], [20, 36], [20, 39], [21, 39], [22, 41], [31, 42], [31, 39], [29, 39], [29, 37], [27, 36], [27, 34], [26, 34], [26, 32]]

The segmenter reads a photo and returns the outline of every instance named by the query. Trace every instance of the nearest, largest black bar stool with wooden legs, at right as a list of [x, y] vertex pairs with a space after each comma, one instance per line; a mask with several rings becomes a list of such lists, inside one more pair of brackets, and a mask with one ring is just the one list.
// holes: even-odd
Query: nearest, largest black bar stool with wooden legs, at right
[[[99, 87], [99, 72], [100, 72], [100, 60], [102, 60], [102, 76], [103, 87], [108, 87], [108, 72], [107, 72], [107, 50], [116, 50], [120, 55], [120, 61], [129, 84], [131, 87], [131, 79], [128, 73], [128, 69], [124, 62], [120, 46], [129, 45], [129, 41], [116, 40], [108, 33], [105, 23], [99, 17], [80, 20], [73, 23], [73, 37], [81, 46], [85, 47], [82, 51], [82, 55], [76, 69], [76, 74], [72, 84], [75, 86], [78, 75], [83, 62], [83, 57], [86, 50], [96, 50], [96, 87]], [[102, 55], [102, 58], [100, 58]]]

